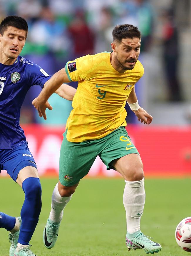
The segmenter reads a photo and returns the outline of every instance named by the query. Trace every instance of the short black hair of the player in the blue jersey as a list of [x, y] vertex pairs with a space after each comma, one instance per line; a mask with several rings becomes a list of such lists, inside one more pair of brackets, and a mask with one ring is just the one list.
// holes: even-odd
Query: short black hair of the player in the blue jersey
[[26, 37], [28, 35], [28, 24], [25, 19], [18, 16], [7, 16], [4, 18], [0, 24], [0, 34], [3, 35], [7, 27], [16, 27], [18, 29], [22, 29], [26, 31]]

